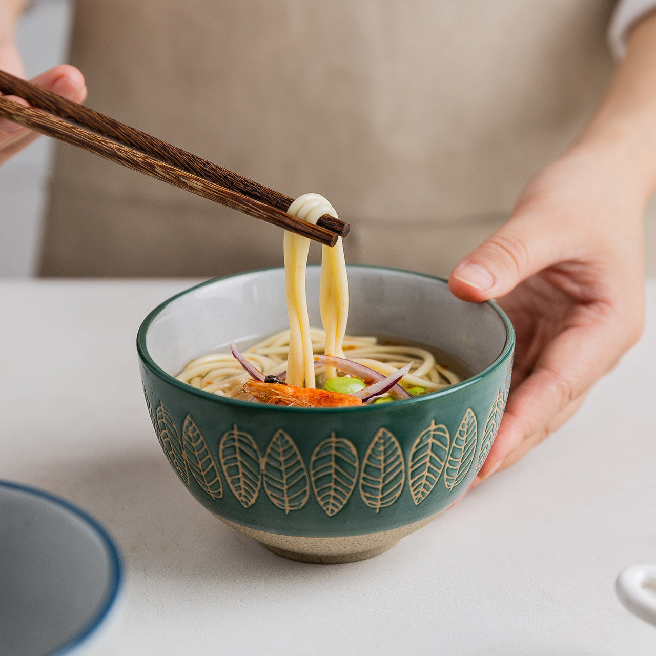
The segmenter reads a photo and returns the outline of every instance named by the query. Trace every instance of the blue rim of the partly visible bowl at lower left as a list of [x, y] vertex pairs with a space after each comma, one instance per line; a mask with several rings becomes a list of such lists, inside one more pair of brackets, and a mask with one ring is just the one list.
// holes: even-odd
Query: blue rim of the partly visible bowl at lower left
[[33, 487], [32, 485], [26, 485], [25, 483], [16, 483], [14, 481], [9, 481], [5, 479], [0, 479], [0, 489], [15, 490], [31, 495], [32, 497], [38, 497], [43, 499], [54, 506], [59, 506], [64, 508], [74, 516], [76, 516], [83, 523], [91, 527], [92, 531], [100, 537], [100, 541], [106, 554], [108, 555], [109, 565], [110, 565], [110, 575], [108, 581], [108, 590], [106, 593], [106, 598], [103, 600], [100, 608], [96, 613], [85, 623], [77, 632], [69, 638], [64, 644], [55, 647], [54, 651], [50, 652], [50, 656], [65, 656], [81, 646], [86, 640], [89, 640], [94, 636], [96, 630], [98, 630], [103, 623], [108, 619], [110, 613], [117, 605], [117, 600], [123, 590], [124, 584], [124, 573], [123, 573], [123, 560], [119, 549], [117, 548], [113, 538], [108, 533], [107, 529], [92, 517], [86, 510], [83, 510], [79, 506], [76, 506], [70, 501], [58, 497], [57, 495], [52, 494], [51, 492], [39, 489], [38, 487]]

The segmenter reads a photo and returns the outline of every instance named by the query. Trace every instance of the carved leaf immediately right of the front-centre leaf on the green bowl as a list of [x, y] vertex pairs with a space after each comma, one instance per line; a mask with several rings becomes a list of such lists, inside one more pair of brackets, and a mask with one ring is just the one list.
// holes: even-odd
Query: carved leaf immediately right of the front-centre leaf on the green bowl
[[403, 483], [405, 463], [401, 446], [389, 430], [379, 428], [362, 461], [359, 485], [362, 501], [379, 512], [399, 498]]

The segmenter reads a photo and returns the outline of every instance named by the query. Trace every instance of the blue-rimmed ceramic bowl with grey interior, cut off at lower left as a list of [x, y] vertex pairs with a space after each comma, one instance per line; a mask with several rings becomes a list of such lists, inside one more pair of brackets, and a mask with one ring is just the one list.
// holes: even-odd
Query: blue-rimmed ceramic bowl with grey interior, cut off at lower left
[[0, 653], [119, 653], [121, 559], [68, 501], [0, 481]]

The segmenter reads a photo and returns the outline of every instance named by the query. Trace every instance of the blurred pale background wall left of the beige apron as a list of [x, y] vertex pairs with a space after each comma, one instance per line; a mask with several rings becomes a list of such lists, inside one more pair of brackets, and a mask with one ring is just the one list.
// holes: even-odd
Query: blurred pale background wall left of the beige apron
[[[41, 0], [25, 14], [18, 47], [28, 79], [66, 62], [70, 18], [68, 0]], [[41, 137], [0, 167], [0, 276], [35, 274], [51, 152]]]

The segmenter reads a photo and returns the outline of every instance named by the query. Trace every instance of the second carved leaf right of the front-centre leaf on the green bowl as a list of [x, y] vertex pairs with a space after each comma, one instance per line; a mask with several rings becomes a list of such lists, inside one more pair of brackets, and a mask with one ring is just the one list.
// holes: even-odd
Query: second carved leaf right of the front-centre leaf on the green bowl
[[440, 480], [447, 453], [449, 430], [444, 424], [438, 426], [431, 420], [430, 426], [419, 434], [410, 451], [408, 480], [415, 506], [428, 497]]

